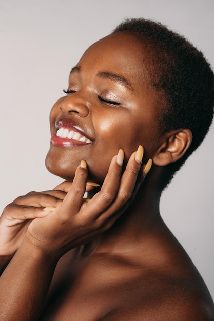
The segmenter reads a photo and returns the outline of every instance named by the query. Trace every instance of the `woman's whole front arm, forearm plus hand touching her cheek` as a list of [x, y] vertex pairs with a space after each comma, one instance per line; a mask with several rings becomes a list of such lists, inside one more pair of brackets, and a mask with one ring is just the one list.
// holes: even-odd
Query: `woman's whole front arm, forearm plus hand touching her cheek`
[[[24, 241], [0, 278], [0, 320], [37, 320], [59, 258], [109, 229], [127, 207], [141, 162], [132, 154], [121, 177], [122, 166], [113, 158], [101, 191], [82, 203], [87, 169], [79, 166], [62, 204], [28, 226]], [[137, 184], [136, 184], [137, 181]]]

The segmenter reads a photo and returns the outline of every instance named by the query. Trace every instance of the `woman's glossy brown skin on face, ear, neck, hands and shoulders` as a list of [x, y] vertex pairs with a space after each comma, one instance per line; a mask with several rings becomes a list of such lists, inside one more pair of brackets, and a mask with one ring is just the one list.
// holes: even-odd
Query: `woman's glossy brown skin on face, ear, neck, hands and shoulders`
[[214, 319], [201, 276], [159, 213], [157, 177], [182, 157], [191, 132], [160, 135], [142, 49], [132, 35], [116, 33], [72, 69], [69, 93], [51, 110], [51, 135], [57, 119], [69, 119], [91, 143], [51, 144], [46, 166], [68, 182], [4, 210], [1, 321]]

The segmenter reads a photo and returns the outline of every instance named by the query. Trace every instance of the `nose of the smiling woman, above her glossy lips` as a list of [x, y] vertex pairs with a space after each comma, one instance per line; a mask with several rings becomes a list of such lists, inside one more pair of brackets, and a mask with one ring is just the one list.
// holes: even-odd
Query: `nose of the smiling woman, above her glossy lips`
[[66, 96], [60, 104], [60, 109], [67, 115], [78, 114], [80, 117], [87, 117], [89, 114], [87, 102], [76, 93]]

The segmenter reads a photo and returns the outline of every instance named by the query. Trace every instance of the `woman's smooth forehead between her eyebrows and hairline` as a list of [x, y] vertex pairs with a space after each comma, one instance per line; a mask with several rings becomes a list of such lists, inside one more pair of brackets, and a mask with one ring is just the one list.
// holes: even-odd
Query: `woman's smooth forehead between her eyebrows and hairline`
[[128, 79], [135, 90], [147, 83], [146, 53], [138, 39], [128, 32], [118, 32], [90, 46], [77, 66], [87, 71], [108, 71]]

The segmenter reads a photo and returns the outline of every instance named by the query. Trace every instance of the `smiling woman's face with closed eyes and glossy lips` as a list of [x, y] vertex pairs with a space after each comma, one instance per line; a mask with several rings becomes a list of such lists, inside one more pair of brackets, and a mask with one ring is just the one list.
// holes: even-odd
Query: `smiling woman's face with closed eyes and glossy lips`
[[50, 113], [50, 172], [72, 180], [84, 159], [89, 179], [102, 183], [120, 148], [125, 163], [139, 145], [145, 161], [152, 157], [159, 146], [157, 96], [135, 37], [115, 33], [89, 47], [71, 70], [67, 91]]

